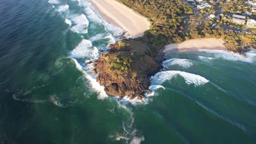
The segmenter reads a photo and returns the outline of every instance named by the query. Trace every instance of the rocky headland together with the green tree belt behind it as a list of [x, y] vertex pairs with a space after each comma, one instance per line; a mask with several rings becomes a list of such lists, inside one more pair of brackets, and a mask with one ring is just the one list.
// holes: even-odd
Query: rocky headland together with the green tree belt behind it
[[[255, 47], [255, 35], [236, 34], [224, 30], [213, 21], [196, 17], [193, 9], [181, 0], [118, 0], [149, 17], [152, 26], [143, 37], [121, 40], [110, 45], [110, 50], [95, 62], [97, 81], [109, 95], [143, 98], [150, 93], [149, 77], [161, 65], [160, 51], [166, 44], [181, 43], [199, 38], [221, 38], [229, 50], [242, 53]], [[186, 22], [184, 17], [195, 17], [200, 22]]]

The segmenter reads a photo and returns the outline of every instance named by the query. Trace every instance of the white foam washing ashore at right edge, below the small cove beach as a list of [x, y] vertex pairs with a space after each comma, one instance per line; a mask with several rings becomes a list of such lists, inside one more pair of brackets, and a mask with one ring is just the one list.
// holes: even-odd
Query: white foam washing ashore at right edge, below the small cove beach
[[242, 61], [242, 62], [254, 62], [256, 54], [252, 52], [246, 52], [246, 58], [238, 55], [234, 52], [223, 51], [223, 50], [207, 50], [207, 49], [199, 49], [200, 52], [213, 53], [214, 58], [222, 58], [228, 61]]

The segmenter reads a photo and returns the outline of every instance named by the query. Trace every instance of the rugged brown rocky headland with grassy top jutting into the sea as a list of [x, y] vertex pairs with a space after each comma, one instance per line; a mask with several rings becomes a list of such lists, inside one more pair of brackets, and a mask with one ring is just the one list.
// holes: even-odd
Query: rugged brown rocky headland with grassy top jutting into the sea
[[110, 50], [95, 62], [97, 81], [109, 95], [143, 98], [150, 93], [149, 77], [161, 68], [150, 50], [141, 41], [122, 40], [110, 45]]

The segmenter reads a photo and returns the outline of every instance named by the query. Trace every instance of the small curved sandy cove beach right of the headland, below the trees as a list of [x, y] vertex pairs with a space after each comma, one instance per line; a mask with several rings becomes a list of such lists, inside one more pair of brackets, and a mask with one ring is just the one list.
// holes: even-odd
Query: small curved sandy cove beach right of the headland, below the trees
[[205, 38], [187, 40], [179, 44], [165, 46], [163, 52], [197, 51], [198, 49], [227, 50], [222, 39]]

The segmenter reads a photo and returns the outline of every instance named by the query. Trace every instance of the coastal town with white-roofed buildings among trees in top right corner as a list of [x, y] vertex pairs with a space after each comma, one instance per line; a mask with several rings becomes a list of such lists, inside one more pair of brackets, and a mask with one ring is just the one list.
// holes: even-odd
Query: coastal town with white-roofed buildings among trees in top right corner
[[[202, 23], [212, 21], [213, 26], [219, 25], [225, 30], [236, 33], [255, 34], [256, 1], [203, 1], [184, 0], [196, 15], [196, 19], [185, 17], [185, 21]], [[233, 7], [234, 6], [234, 7]], [[203, 20], [201, 19], [203, 17]]]

